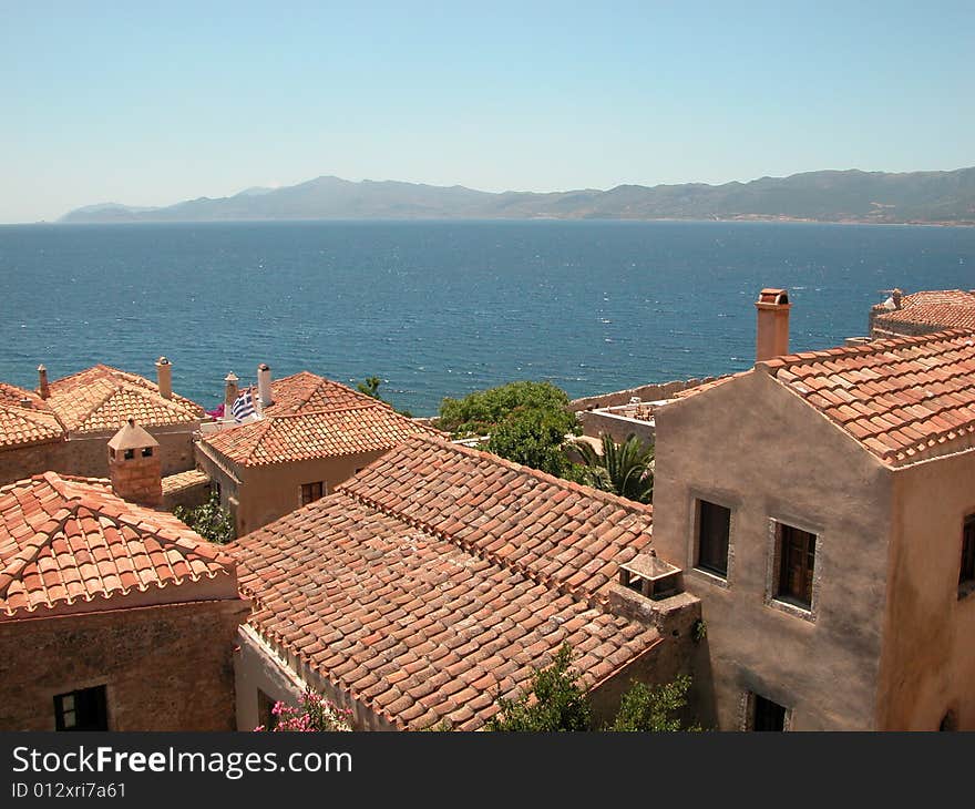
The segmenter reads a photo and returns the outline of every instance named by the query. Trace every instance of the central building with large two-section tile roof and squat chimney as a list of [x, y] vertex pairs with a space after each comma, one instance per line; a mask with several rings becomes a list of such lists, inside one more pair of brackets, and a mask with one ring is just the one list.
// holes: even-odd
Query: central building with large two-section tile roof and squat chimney
[[359, 729], [474, 730], [563, 643], [599, 719], [699, 648], [698, 601], [651, 547], [650, 506], [414, 436], [227, 550], [254, 612], [240, 729], [305, 685]]

